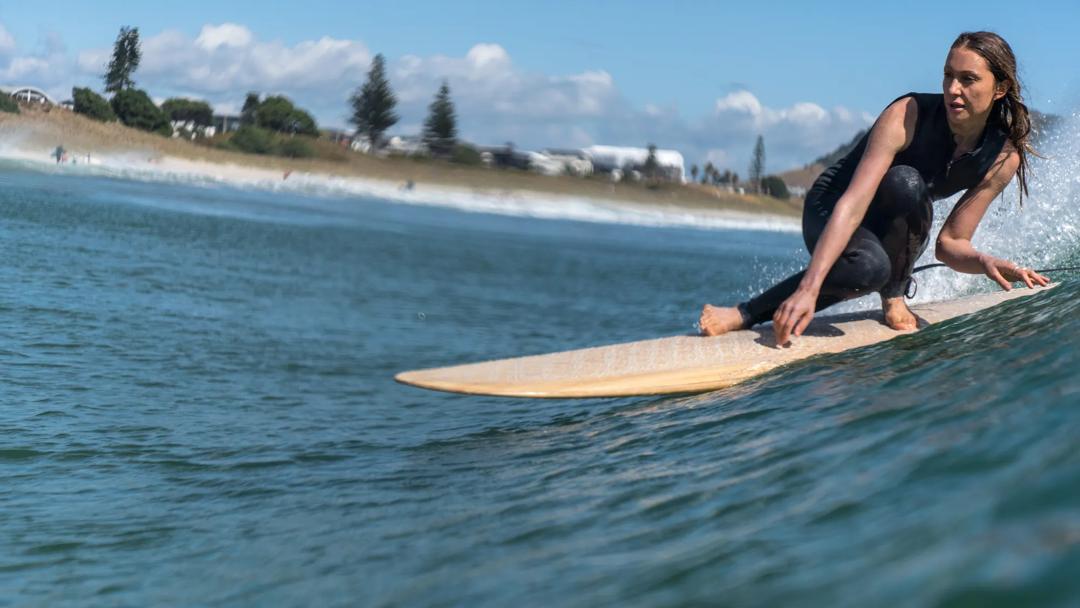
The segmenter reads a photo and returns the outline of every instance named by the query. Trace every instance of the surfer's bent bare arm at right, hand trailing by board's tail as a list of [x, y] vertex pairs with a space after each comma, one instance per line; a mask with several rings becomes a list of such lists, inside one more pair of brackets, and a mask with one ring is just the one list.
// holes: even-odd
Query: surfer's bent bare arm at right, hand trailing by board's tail
[[957, 201], [937, 235], [937, 244], [934, 247], [935, 257], [953, 270], [986, 274], [1005, 291], [1012, 288], [1014, 281], [1023, 281], [1028, 287], [1050, 283], [1049, 279], [1032, 270], [977, 252], [971, 245], [971, 238], [986, 215], [986, 210], [1012, 180], [1017, 166], [1020, 166], [1020, 154], [1011, 145], [1007, 145], [983, 180]]

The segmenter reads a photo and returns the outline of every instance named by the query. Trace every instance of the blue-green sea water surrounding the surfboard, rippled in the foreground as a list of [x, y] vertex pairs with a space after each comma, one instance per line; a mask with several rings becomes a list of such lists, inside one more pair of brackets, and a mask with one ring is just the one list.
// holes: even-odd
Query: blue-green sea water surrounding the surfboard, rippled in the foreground
[[9, 167], [0, 242], [2, 606], [1080, 602], [1076, 279], [727, 391], [535, 402], [391, 378], [690, 332], [798, 235]]

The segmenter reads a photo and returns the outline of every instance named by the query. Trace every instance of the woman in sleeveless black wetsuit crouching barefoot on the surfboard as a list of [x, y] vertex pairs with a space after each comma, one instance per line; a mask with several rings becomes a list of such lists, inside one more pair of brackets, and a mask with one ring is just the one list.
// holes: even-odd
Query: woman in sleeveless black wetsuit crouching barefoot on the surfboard
[[904, 302], [933, 222], [933, 201], [966, 190], [937, 235], [939, 260], [986, 274], [1003, 289], [1050, 280], [975, 251], [971, 238], [990, 202], [1016, 176], [1027, 193], [1031, 122], [1016, 57], [1000, 36], [961, 33], [945, 59], [941, 94], [908, 93], [889, 105], [847, 157], [807, 192], [802, 239], [810, 266], [735, 307], [705, 305], [701, 333], [718, 336], [772, 320], [777, 343], [799, 336], [818, 310], [872, 292], [897, 330], [917, 321]]

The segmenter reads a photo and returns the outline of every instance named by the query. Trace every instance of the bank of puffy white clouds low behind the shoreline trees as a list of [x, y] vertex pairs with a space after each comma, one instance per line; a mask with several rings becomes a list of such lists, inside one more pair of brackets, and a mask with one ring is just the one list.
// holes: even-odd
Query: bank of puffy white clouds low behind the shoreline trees
[[[21, 52], [0, 25], [0, 82], [35, 84], [67, 98], [72, 85], [100, 89], [111, 46], [68, 53], [53, 37], [36, 53]], [[285, 94], [329, 126], [346, 124], [348, 99], [373, 57], [361, 40], [323, 37], [295, 44], [261, 40], [235, 23], [207, 24], [195, 36], [165, 30], [143, 37], [135, 80], [154, 98], [189, 96], [235, 112], [248, 91]], [[480, 144], [514, 141], [522, 148], [645, 146], [680, 150], [687, 164], [712, 161], [743, 173], [758, 134], [768, 171], [802, 164], [873, 122], [866, 112], [825, 109], [809, 100], [771, 107], [750, 91], [718, 98], [706, 117], [675, 106], [635, 107], [603, 69], [551, 75], [515, 65], [503, 46], [482, 42], [461, 55], [405, 55], [388, 59], [401, 122], [396, 133], [422, 124], [442, 81], [450, 84], [460, 133]]]

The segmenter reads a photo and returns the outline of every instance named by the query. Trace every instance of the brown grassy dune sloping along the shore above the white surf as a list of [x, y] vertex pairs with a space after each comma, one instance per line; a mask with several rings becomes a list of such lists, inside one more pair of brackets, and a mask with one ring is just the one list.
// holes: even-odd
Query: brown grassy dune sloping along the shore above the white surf
[[477, 192], [524, 190], [660, 206], [785, 216], [798, 215], [801, 208], [799, 201], [732, 194], [697, 184], [647, 187], [642, 184], [610, 184], [599, 177], [549, 177], [522, 171], [490, 170], [431, 160], [380, 159], [352, 152], [324, 140], [314, 143], [320, 157], [318, 159], [244, 154], [181, 139], [168, 139], [119, 123], [102, 123], [60, 109], [24, 110], [21, 114], [0, 113], [0, 146], [3, 145], [23, 152], [40, 152], [42, 158], [48, 158], [49, 152], [57, 145], [63, 145], [79, 154], [132, 153], [145, 154], [147, 159], [172, 157], [281, 172], [379, 179], [392, 184], [413, 180], [416, 184], [449, 186]]

